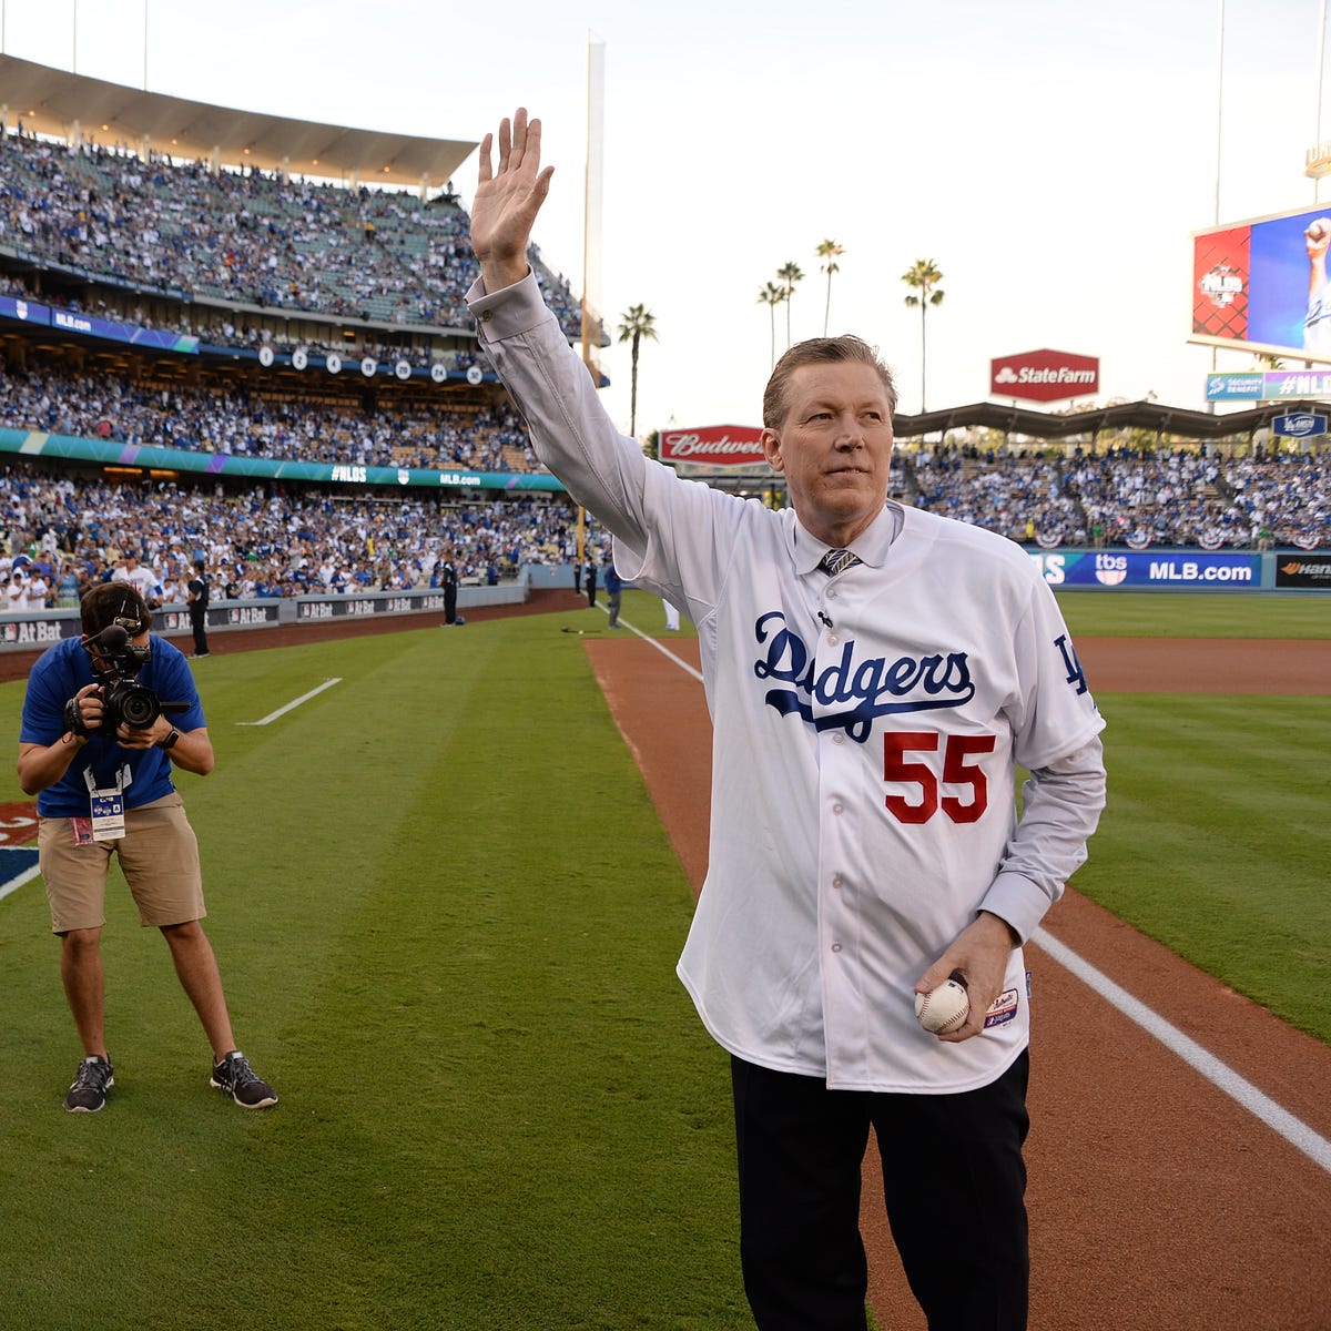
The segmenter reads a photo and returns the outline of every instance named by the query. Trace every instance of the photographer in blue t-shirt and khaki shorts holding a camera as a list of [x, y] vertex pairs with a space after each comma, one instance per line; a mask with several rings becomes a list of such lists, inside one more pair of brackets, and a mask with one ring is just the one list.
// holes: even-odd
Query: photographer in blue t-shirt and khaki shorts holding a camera
[[237, 1105], [264, 1109], [277, 1095], [236, 1049], [217, 958], [200, 922], [206, 912], [198, 843], [172, 783], [173, 763], [197, 776], [213, 769], [193, 675], [176, 647], [149, 632], [152, 611], [133, 586], [91, 588], [80, 620], [83, 638], [56, 643], [32, 667], [19, 736], [19, 784], [37, 796], [60, 976], [84, 1047], [65, 1109], [96, 1113], [114, 1085], [101, 965], [112, 852], [140, 924], [156, 925], [170, 946], [213, 1047], [212, 1085]]

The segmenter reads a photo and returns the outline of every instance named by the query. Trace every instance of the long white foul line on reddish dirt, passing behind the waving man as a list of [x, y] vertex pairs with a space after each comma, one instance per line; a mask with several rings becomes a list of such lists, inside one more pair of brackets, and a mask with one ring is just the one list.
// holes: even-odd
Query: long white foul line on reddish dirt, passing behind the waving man
[[[672, 651], [656, 642], [655, 638], [650, 638], [627, 620], [620, 620], [620, 623], [626, 628], [632, 628], [639, 638], [651, 643], [658, 651], [664, 652], [664, 655], [687, 673], [692, 675], [699, 683], [703, 681], [703, 676], [688, 662], [680, 660]], [[1134, 998], [1121, 985], [1114, 984], [1103, 972], [1097, 970], [1089, 961], [1083, 961], [1071, 948], [1051, 937], [1045, 929], [1037, 929], [1033, 941], [1065, 970], [1071, 972], [1082, 984], [1113, 1004], [1125, 1017], [1137, 1022], [1147, 1034], [1154, 1036], [1173, 1054], [1182, 1058], [1189, 1067], [1205, 1077], [1218, 1090], [1222, 1090], [1230, 1099], [1242, 1105], [1272, 1131], [1279, 1133], [1291, 1146], [1307, 1155], [1314, 1165], [1320, 1166], [1331, 1174], [1331, 1142], [1324, 1137], [1315, 1133], [1300, 1118], [1295, 1118], [1294, 1114], [1278, 1105], [1270, 1095], [1258, 1090], [1247, 1078], [1240, 1077], [1229, 1063], [1222, 1062], [1210, 1050], [1203, 1049], [1190, 1036], [1185, 1036], [1183, 1032], [1167, 1022], [1159, 1013], [1147, 1008], [1141, 1000]]]

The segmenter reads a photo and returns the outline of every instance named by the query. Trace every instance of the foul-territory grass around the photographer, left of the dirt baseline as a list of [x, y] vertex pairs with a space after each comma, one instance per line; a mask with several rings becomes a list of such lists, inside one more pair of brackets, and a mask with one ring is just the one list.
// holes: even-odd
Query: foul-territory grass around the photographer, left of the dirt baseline
[[[689, 894], [580, 644], [510, 620], [319, 658], [346, 687], [264, 731], [228, 721], [314, 663], [218, 681], [229, 752], [186, 787], [277, 1110], [182, 1082], [197, 1029], [121, 910], [108, 948], [141, 984], [108, 956], [122, 1085], [91, 1121], [61, 1114], [52, 944], [0, 913], [0, 946], [29, 953], [15, 998], [48, 1028], [41, 1107], [0, 1106], [28, 1127], [0, 1195], [31, 1254], [15, 1324], [79, 1324], [85, 1282], [102, 1324], [194, 1324], [225, 1280], [276, 1327], [748, 1324], [725, 1059], [673, 978]], [[93, 1181], [113, 1234], [71, 1205]]]

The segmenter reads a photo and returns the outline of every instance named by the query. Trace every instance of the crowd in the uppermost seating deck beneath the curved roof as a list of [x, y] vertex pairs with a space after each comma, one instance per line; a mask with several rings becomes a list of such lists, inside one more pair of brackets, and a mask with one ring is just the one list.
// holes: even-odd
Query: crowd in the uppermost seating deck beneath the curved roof
[[[104, 282], [274, 313], [470, 329], [463, 295], [476, 265], [466, 237], [451, 190], [425, 201], [0, 134], [0, 244]], [[580, 306], [567, 281], [532, 258], [576, 335]]]

